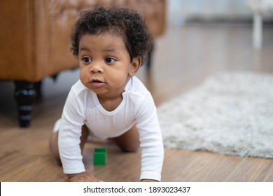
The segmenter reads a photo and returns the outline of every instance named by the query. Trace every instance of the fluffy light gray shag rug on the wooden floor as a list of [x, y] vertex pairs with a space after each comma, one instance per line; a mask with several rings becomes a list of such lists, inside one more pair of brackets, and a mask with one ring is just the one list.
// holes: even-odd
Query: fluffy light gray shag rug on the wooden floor
[[158, 107], [167, 148], [273, 158], [273, 75], [221, 73]]

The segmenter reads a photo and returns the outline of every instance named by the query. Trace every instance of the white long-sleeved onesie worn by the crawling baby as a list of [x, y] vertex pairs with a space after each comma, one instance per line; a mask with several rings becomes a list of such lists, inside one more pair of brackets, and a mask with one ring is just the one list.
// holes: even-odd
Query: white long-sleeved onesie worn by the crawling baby
[[162, 134], [151, 93], [136, 77], [130, 78], [123, 101], [106, 111], [97, 94], [80, 80], [71, 87], [59, 123], [59, 154], [65, 174], [85, 172], [80, 153], [81, 127], [100, 138], [118, 137], [136, 124], [141, 142], [140, 179], [160, 181], [164, 157]]

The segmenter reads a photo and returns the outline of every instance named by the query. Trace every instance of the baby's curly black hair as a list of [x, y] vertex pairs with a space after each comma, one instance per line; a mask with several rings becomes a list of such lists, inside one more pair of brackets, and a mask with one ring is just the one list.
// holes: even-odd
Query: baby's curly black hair
[[134, 57], [141, 57], [143, 64], [151, 50], [153, 37], [144, 19], [136, 10], [97, 7], [80, 13], [80, 18], [73, 27], [71, 52], [78, 57], [81, 36], [104, 33], [123, 36], [131, 61]]

